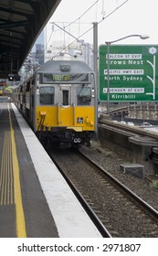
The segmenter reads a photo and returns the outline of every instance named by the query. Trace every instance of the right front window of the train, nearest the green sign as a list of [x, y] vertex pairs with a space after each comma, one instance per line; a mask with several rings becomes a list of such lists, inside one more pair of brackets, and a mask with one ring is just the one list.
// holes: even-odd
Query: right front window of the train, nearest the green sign
[[90, 87], [80, 87], [77, 89], [78, 105], [90, 105], [91, 89]]

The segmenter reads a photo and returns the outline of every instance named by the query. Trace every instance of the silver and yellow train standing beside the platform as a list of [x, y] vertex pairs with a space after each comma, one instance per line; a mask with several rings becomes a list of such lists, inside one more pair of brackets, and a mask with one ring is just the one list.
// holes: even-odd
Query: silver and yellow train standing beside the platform
[[47, 61], [27, 80], [17, 103], [45, 144], [90, 145], [95, 132], [95, 76], [83, 61]]

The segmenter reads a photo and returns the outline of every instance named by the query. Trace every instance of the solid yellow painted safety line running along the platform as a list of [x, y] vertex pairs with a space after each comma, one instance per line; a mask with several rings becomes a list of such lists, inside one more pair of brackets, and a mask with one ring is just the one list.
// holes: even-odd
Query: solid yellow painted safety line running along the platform
[[16, 155], [15, 136], [14, 136], [9, 104], [7, 104], [7, 106], [8, 106], [8, 112], [9, 112], [9, 123], [10, 123], [11, 141], [12, 141], [12, 157], [13, 157], [15, 204], [16, 204], [16, 236], [17, 238], [26, 238], [26, 221], [25, 221], [24, 209], [23, 209], [23, 203], [22, 203], [19, 165], [18, 165], [18, 160]]

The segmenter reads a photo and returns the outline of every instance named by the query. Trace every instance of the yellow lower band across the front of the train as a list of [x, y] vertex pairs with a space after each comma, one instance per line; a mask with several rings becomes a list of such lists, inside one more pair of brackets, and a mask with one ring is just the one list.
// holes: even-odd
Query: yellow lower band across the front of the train
[[67, 127], [76, 132], [93, 131], [94, 116], [93, 106], [37, 106], [37, 129], [42, 119], [43, 127]]

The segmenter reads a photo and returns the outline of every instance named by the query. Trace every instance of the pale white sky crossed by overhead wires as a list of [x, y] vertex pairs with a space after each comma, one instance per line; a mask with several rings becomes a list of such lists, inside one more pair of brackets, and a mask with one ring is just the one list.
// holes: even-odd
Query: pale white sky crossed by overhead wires
[[118, 43], [158, 44], [157, 0], [61, 0], [47, 22], [47, 45], [54, 40], [63, 40], [63, 45], [68, 45], [74, 37], [93, 43], [94, 22], [98, 23], [99, 46], [135, 34], [150, 38], [130, 37]]

